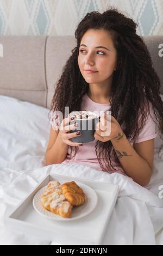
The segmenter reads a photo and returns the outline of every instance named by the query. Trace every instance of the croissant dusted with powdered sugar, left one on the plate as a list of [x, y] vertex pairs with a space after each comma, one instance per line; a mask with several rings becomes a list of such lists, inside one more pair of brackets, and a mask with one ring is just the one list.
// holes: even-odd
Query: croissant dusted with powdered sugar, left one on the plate
[[58, 181], [50, 181], [41, 196], [42, 206], [54, 214], [64, 218], [70, 218], [72, 204], [62, 194], [61, 185]]

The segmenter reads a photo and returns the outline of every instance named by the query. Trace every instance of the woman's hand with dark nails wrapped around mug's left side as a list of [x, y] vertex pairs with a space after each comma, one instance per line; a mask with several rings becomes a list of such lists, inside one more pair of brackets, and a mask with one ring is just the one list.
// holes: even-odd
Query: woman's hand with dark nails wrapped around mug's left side
[[78, 147], [83, 144], [77, 143], [77, 142], [72, 142], [72, 141], [70, 141], [70, 139], [74, 138], [74, 137], [79, 137], [81, 135], [81, 133], [80, 133], [80, 135], [78, 135], [77, 133], [80, 131], [68, 133], [69, 131], [76, 129], [77, 124], [66, 125], [66, 124], [71, 123], [71, 121], [73, 121], [73, 120], [74, 119], [71, 119], [71, 117], [67, 117], [62, 120], [61, 125], [60, 125], [60, 137], [65, 144], [70, 145], [72, 147]]

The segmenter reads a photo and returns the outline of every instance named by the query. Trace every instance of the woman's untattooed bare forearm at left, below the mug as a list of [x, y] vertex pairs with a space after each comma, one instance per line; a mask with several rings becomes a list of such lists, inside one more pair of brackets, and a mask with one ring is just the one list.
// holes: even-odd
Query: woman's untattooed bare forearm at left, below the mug
[[68, 145], [62, 141], [59, 132], [53, 147], [46, 152], [46, 165], [63, 162], [66, 158], [67, 150]]

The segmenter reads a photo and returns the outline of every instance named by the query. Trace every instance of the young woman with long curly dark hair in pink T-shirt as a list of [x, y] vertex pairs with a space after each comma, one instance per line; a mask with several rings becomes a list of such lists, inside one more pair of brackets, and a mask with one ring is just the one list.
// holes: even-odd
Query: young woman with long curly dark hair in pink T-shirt
[[[51, 105], [51, 133], [46, 164], [77, 162], [108, 173], [130, 176], [148, 184], [154, 159], [155, 124], [163, 132], [163, 102], [160, 80], [152, 66], [147, 46], [136, 34], [136, 23], [108, 9], [93, 11], [79, 23], [72, 50], [55, 88]], [[88, 70], [92, 70], [88, 71]], [[111, 111], [111, 133], [97, 124], [95, 140], [74, 143], [79, 133], [65, 118], [72, 111]], [[61, 121], [60, 111], [64, 119]], [[108, 125], [104, 115], [105, 124]], [[62, 129], [60, 129], [62, 127]]]

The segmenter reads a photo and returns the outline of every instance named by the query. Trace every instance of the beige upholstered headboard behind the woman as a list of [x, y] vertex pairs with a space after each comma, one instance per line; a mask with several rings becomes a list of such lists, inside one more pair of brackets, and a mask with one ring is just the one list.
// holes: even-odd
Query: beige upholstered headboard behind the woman
[[[143, 36], [153, 65], [161, 80], [163, 94], [163, 57], [159, 45], [163, 36]], [[0, 95], [15, 97], [49, 108], [54, 84], [76, 46], [74, 36], [0, 36]]]

